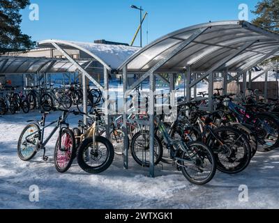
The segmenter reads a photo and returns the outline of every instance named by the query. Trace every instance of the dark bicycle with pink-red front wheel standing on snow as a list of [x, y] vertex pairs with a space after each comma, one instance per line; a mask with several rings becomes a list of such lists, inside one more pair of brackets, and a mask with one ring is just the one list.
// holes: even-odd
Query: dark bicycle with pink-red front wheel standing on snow
[[[56, 109], [62, 112], [62, 115], [56, 121], [45, 125], [45, 121], [49, 112], [40, 112], [42, 114], [41, 121], [30, 120], [26, 128], [20, 134], [20, 139], [17, 144], [17, 154], [23, 161], [32, 160], [33, 157], [40, 150], [43, 149], [43, 160], [47, 161], [49, 157], [45, 155], [45, 146], [52, 139], [57, 130], [59, 130], [59, 137], [56, 141], [54, 149], [54, 165], [57, 171], [64, 173], [70, 168], [74, 154], [76, 153], [75, 136], [69, 129], [69, 124], [66, 123], [68, 114], [75, 113], [68, 110]], [[47, 137], [45, 137], [45, 129], [51, 125], [55, 125], [54, 129]]]

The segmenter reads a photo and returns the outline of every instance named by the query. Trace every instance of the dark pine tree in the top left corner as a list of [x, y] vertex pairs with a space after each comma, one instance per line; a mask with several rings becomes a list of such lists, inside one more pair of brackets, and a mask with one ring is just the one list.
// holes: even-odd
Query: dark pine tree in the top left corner
[[0, 54], [24, 51], [36, 44], [20, 29], [20, 10], [29, 5], [29, 0], [0, 0]]

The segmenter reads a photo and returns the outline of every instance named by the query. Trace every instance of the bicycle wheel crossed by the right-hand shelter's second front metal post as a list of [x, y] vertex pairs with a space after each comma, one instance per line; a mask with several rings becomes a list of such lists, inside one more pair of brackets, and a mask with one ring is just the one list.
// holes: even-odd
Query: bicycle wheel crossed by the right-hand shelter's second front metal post
[[[132, 139], [131, 153], [138, 164], [142, 167], [150, 166], [150, 151], [149, 151], [149, 131], [137, 132]], [[154, 157], [157, 165], [163, 156], [163, 146], [158, 136], [154, 137]]]

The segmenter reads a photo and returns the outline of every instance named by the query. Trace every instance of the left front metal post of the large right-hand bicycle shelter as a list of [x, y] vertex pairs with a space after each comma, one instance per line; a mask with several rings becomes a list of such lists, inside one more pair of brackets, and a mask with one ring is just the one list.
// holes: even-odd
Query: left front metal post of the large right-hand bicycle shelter
[[124, 132], [124, 144], [123, 144], [123, 164], [124, 169], [128, 169], [128, 129], [127, 129], [127, 96], [126, 91], [128, 89], [128, 80], [127, 80], [127, 66], [123, 68], [123, 132]]

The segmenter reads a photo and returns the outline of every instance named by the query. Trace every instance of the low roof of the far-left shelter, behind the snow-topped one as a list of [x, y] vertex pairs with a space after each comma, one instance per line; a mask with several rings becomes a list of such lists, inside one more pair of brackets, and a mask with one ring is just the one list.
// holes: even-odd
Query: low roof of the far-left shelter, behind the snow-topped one
[[[90, 60], [78, 60], [86, 66]], [[0, 74], [33, 74], [38, 71], [47, 73], [76, 72], [73, 63], [66, 59], [50, 59], [26, 56], [0, 56]]]

